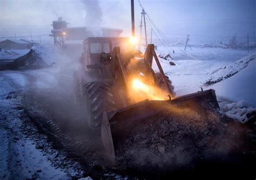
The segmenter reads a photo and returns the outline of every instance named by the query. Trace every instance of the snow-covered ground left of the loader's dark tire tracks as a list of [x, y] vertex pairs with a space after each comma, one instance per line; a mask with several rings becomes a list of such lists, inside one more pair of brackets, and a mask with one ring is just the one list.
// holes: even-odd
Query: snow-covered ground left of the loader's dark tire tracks
[[[26, 115], [24, 96], [28, 90], [40, 91], [50, 87], [56, 68], [29, 71], [0, 72], [0, 178], [1, 179], [66, 179], [82, 172], [77, 168], [58, 168], [53, 157], [60, 154], [55, 149], [43, 147], [46, 137]], [[27, 131], [33, 131], [28, 133]], [[50, 172], [50, 173], [49, 173]]]

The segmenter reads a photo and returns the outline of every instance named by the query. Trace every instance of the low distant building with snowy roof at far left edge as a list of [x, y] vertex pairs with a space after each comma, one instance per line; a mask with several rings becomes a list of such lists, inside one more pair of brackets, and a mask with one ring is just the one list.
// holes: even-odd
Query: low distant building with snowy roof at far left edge
[[0, 41], [0, 48], [31, 48], [33, 44], [24, 40], [6, 39]]

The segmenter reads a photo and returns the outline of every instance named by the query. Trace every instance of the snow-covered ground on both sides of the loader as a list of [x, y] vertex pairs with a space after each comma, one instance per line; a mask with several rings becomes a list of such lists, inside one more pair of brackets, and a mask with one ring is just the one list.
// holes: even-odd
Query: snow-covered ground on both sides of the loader
[[[53, 165], [53, 155], [49, 156], [37, 148], [35, 138], [28, 138], [22, 131], [23, 92], [26, 89], [42, 91], [54, 88], [59, 78], [69, 80], [71, 69], [77, 65], [53, 45], [38, 45], [33, 49], [52, 67], [0, 71], [0, 179], [66, 179], [76, 173], [83, 177], [83, 172], [77, 172], [72, 165], [68, 168]], [[161, 47], [158, 49], [157, 54], [169, 53]], [[247, 114], [256, 112], [255, 52], [248, 54], [246, 51], [232, 49], [193, 48], [193, 51], [186, 51], [186, 54], [179, 47], [173, 49], [176, 53], [171, 53], [171, 56], [176, 66], [170, 66], [169, 61], [164, 59], [159, 60], [177, 96], [197, 92], [201, 87], [204, 90], [215, 89], [221, 110], [228, 116], [244, 123], [248, 120]], [[156, 63], [153, 63], [153, 69], [157, 69]], [[227, 77], [228, 74], [232, 76]], [[219, 80], [221, 77], [227, 78], [206, 85], [208, 80]], [[50, 151], [56, 155], [55, 150]]]

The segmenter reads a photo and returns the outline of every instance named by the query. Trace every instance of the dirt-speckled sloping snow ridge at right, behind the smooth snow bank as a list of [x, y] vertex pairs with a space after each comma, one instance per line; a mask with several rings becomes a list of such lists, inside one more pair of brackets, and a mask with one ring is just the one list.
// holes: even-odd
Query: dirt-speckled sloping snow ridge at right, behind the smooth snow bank
[[213, 70], [211, 73], [211, 77], [206, 81], [206, 84], [215, 84], [237, 74], [238, 71], [246, 68], [250, 61], [254, 61], [255, 56], [256, 53], [253, 52], [245, 57], [242, 57], [240, 60], [235, 61], [234, 63]]

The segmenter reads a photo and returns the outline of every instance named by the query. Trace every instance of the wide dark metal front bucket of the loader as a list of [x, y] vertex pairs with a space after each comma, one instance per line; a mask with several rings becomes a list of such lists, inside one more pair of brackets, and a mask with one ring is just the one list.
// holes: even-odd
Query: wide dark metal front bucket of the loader
[[218, 110], [219, 105], [215, 91], [210, 89], [191, 93], [189, 95], [173, 98], [172, 100], [149, 100], [124, 107], [123, 109], [104, 112], [102, 120], [101, 136], [106, 151], [107, 160], [114, 164], [115, 146], [129, 135], [132, 130], [142, 123], [142, 120], [154, 116], [171, 106]]

